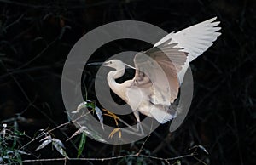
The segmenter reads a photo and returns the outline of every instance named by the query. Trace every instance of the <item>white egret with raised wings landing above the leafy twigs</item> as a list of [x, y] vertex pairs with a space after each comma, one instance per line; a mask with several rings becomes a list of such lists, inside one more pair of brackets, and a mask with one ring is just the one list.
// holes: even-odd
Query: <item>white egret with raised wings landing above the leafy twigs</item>
[[136, 54], [135, 77], [124, 83], [115, 80], [124, 75], [125, 63], [121, 60], [103, 63], [115, 69], [108, 73], [108, 85], [131, 106], [137, 122], [140, 122], [139, 112], [160, 123], [176, 116], [171, 105], [177, 99], [189, 62], [206, 51], [221, 34], [217, 32], [221, 29], [217, 27], [220, 22], [214, 20], [216, 17], [172, 32], [155, 43], [153, 48]]

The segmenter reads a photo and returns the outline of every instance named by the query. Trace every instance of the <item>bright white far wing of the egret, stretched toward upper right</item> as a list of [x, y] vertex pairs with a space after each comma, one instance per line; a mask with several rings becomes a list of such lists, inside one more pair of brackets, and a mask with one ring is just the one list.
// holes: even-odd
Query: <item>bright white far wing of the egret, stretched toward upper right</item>
[[179, 83], [183, 82], [183, 77], [185, 72], [189, 67], [189, 62], [197, 58], [203, 52], [207, 50], [212, 43], [221, 35], [220, 32], [217, 32], [221, 27], [216, 27], [220, 23], [215, 21], [217, 17], [214, 17], [210, 20], [203, 21], [195, 26], [189, 26], [182, 31], [172, 32], [166, 37], [160, 39], [159, 42], [154, 44], [154, 47], [159, 46], [161, 43], [170, 40], [170, 43], [177, 43], [177, 48], [183, 48], [183, 52], [188, 53], [188, 59], [183, 65], [183, 69], [177, 73]]

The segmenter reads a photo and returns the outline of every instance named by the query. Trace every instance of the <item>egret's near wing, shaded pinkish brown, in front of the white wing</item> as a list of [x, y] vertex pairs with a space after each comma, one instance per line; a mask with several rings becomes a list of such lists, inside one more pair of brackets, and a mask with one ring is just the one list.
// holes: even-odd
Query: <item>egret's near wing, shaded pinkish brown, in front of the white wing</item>
[[154, 104], [170, 105], [177, 98], [177, 72], [187, 59], [183, 48], [175, 48], [177, 43], [168, 44], [169, 42], [170, 40], [157, 48], [138, 53], [134, 58], [136, 85], [153, 90], [150, 97]]

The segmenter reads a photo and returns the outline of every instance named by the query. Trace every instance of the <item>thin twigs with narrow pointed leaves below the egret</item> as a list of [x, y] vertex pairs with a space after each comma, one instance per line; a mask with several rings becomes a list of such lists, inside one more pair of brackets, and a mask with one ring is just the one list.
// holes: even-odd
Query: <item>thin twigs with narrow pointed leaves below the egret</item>
[[[140, 160], [140, 159], [152, 159], [152, 160], [157, 160], [166, 164], [171, 164], [170, 161], [175, 161], [174, 163], [172, 163], [173, 165], [180, 165], [181, 161], [180, 159], [186, 158], [186, 157], [193, 157], [195, 158], [195, 160], [197, 160], [198, 162], [201, 162], [202, 164], [205, 164], [205, 162], [202, 162], [201, 159], [199, 159], [197, 156], [197, 150], [200, 149], [201, 151], [204, 151], [208, 154], [207, 150], [202, 146], [202, 145], [195, 145], [194, 147], [192, 147], [189, 150], [193, 150], [191, 151], [189, 154], [183, 155], [183, 156], [175, 156], [175, 157], [169, 157], [169, 158], [163, 158], [163, 157], [158, 157], [158, 156], [151, 156], [150, 153], [148, 155], [142, 154], [143, 151], [143, 147], [146, 144], [146, 142], [148, 141], [150, 134], [148, 135], [147, 139], [144, 140], [143, 145], [141, 145], [141, 148], [137, 151], [137, 152], [133, 152], [133, 153], [128, 153], [125, 154], [123, 156], [110, 156], [110, 157], [103, 157], [103, 158], [98, 158], [98, 157], [80, 157], [82, 155], [82, 152], [84, 151], [84, 145], [86, 142], [86, 137], [87, 135], [94, 135], [90, 132], [90, 130], [88, 128], [86, 128], [85, 126], [80, 126], [79, 130], [76, 131], [70, 138], [67, 139], [70, 140], [72, 139], [74, 136], [78, 136], [80, 134], [80, 142], [79, 142], [79, 147], [78, 147], [78, 153], [77, 153], [77, 157], [70, 157], [67, 155], [67, 151], [65, 151], [65, 146], [64, 144], [61, 142], [60, 139], [56, 139], [54, 137], [52, 137], [52, 132], [55, 131], [58, 128], [62, 128], [64, 126], [67, 126], [67, 124], [76, 124], [79, 125], [79, 122], [77, 122], [80, 118], [87, 116], [89, 113], [96, 111], [96, 115], [99, 119], [99, 121], [102, 123], [102, 129], [104, 130], [103, 127], [103, 115], [108, 116], [108, 117], [112, 117], [114, 122], [116, 123], [116, 126], [119, 126], [119, 122], [122, 122], [122, 120], [117, 117], [115, 114], [113, 114], [111, 111], [105, 110], [103, 109], [103, 111], [105, 113], [103, 113], [102, 115], [102, 111], [96, 106], [96, 104], [90, 100], [87, 100], [86, 102], [84, 101], [83, 103], [81, 103], [78, 106], [77, 111], [74, 111], [73, 113], [78, 113], [81, 109], [83, 109], [84, 107], [86, 108], [90, 108], [90, 111], [86, 112], [85, 114], [83, 114], [82, 116], [76, 118], [75, 120], [71, 121], [71, 122], [66, 122], [63, 123], [61, 125], [59, 125], [58, 127], [52, 128], [48, 131], [41, 129], [41, 133], [38, 134], [38, 136], [34, 139], [31, 139], [31, 141], [29, 143], [27, 143], [26, 145], [20, 146], [20, 149], [15, 149], [14, 147], [12, 148], [13, 151], [8, 151], [7, 148], [5, 148], [6, 152], [0, 152], [0, 162], [1, 164], [22, 164], [22, 162], [63, 162], [64, 164], [67, 163], [67, 161], [110, 161], [110, 160], [116, 160], [116, 159], [125, 159], [125, 160], [129, 160], [132, 161], [134, 159]], [[109, 134], [109, 138], [112, 138], [113, 134], [119, 132], [119, 129], [114, 129], [113, 132], [111, 134]], [[11, 133], [11, 134], [10, 134]], [[12, 139], [15, 140], [16, 135], [23, 135], [20, 134], [17, 131], [11, 132], [9, 129], [7, 129], [7, 125], [3, 124], [3, 129], [1, 131], [1, 143], [3, 143], [3, 139], [7, 140], [7, 139]], [[119, 132], [119, 138], [121, 138], [121, 132]], [[41, 142], [41, 145], [39, 145], [37, 147], [37, 149], [35, 151], [40, 151], [40, 150], [44, 150], [44, 148], [47, 145], [52, 145], [56, 151], [58, 151], [61, 156], [61, 158], [52, 158], [52, 159], [34, 159], [34, 160], [21, 160], [21, 156], [22, 154], [26, 154], [26, 155], [30, 155], [32, 153], [27, 153], [25, 150], [27, 145], [30, 145], [32, 142], [36, 141], [37, 139], [40, 139], [39, 142]], [[2, 148], [4, 146], [4, 144], [2, 145]], [[13, 145], [15, 146], [15, 145]], [[3, 150], [2, 150], [3, 151]], [[9, 159], [7, 159], [6, 156], [4, 156], [4, 154], [9, 154], [12, 153], [14, 156], [12, 156], [12, 158], [9, 157]], [[16, 158], [15, 158], [16, 156]], [[7, 161], [8, 160], [8, 161]]]

